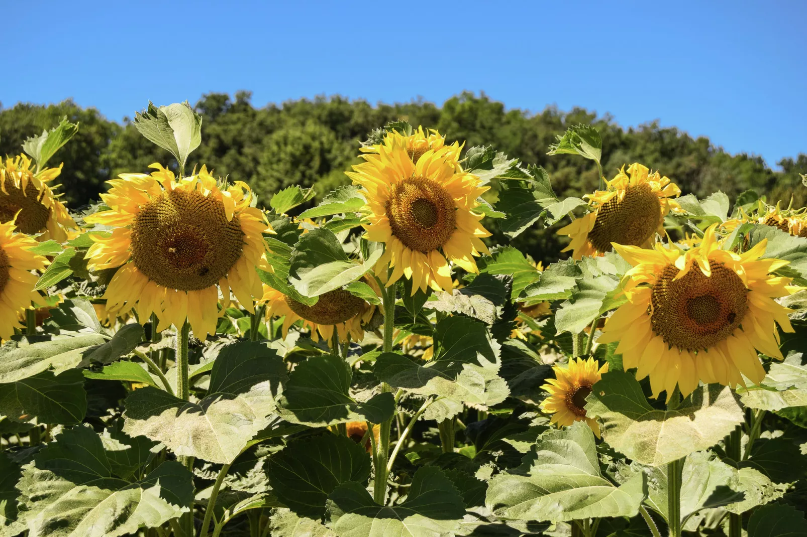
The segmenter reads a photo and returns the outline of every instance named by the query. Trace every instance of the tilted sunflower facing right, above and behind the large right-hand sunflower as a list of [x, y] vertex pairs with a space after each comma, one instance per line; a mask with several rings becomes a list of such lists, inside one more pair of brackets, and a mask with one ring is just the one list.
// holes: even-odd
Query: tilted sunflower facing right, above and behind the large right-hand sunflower
[[642, 164], [625, 166], [607, 189], [586, 194], [591, 212], [575, 219], [558, 235], [569, 235], [571, 243], [562, 252], [572, 257], [601, 256], [610, 252], [611, 243], [650, 248], [656, 232], [663, 232], [664, 217], [678, 204], [671, 200], [681, 194], [675, 183]]

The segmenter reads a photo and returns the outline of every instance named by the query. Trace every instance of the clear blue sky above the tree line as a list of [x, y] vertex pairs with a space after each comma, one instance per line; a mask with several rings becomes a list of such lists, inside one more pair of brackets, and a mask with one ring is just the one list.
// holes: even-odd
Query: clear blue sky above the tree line
[[[36, 7], [35, 7], [36, 6]], [[807, 2], [2, 2], [0, 102], [253, 105], [462, 90], [659, 119], [775, 166], [807, 152]]]

